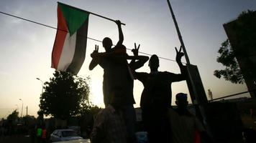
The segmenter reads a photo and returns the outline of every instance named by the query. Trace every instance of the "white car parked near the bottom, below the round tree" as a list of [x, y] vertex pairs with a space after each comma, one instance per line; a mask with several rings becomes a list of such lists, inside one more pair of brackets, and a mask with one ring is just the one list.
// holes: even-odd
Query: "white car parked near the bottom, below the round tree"
[[83, 139], [73, 129], [56, 129], [50, 134], [50, 142], [61, 142]]

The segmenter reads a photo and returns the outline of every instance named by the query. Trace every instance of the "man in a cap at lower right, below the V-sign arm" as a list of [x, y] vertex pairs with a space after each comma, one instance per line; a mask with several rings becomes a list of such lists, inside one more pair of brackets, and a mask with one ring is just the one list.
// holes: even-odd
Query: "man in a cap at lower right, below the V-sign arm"
[[168, 109], [168, 119], [170, 122], [173, 143], [199, 143], [204, 138], [206, 142], [212, 142], [206, 133], [203, 124], [195, 115], [188, 112], [187, 94], [176, 94], [177, 109]]

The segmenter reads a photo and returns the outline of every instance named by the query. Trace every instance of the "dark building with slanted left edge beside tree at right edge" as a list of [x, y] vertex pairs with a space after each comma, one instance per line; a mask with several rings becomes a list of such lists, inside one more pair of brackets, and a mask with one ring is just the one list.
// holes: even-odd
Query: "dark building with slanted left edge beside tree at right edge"
[[251, 97], [256, 97], [256, 11], [223, 24]]

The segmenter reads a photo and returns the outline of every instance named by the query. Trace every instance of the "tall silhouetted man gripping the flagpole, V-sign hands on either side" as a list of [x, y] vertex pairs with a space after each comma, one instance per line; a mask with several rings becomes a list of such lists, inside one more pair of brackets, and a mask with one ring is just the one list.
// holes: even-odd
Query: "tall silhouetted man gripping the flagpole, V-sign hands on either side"
[[[119, 25], [119, 22], [116, 23]], [[121, 26], [119, 27], [119, 32], [122, 32], [122, 30], [120, 30]], [[120, 36], [119, 38], [123, 40], [123, 36]], [[108, 38], [105, 38], [103, 46], [106, 52], [99, 53], [99, 47], [96, 46], [96, 49], [91, 54], [93, 59], [89, 69], [92, 70], [97, 64], [104, 69], [103, 94], [105, 106], [109, 104], [111, 89], [121, 87], [124, 91], [124, 103], [122, 104], [123, 117], [127, 125], [128, 138], [134, 140], [134, 123], [136, 120], [136, 114], [133, 107], [133, 104], [135, 104], [133, 97], [133, 73], [135, 69], [139, 69], [145, 64], [148, 57], [138, 56], [138, 49], [140, 48], [140, 45], [137, 48], [136, 44], [134, 44], [135, 48], [132, 50], [134, 52], [134, 56], [128, 56], [126, 54], [125, 46], [120, 45], [121, 43], [122, 42], [118, 42], [118, 44], [111, 49], [111, 41]], [[127, 59], [132, 59], [132, 61], [128, 64]]]

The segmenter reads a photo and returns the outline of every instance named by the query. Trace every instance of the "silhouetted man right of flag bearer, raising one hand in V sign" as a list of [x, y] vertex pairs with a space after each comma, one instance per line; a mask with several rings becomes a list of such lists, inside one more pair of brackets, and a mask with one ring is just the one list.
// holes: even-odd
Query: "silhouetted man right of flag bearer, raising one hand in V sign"
[[170, 141], [170, 130], [168, 130], [168, 119], [166, 113], [171, 106], [172, 82], [180, 82], [186, 79], [186, 67], [181, 63], [184, 55], [176, 48], [176, 61], [180, 67], [181, 74], [173, 74], [168, 71], [158, 71], [159, 59], [157, 55], [150, 57], [150, 73], [135, 72], [137, 79], [142, 82], [144, 89], [140, 99], [142, 109], [142, 122], [148, 132], [149, 142]]

